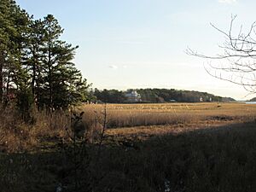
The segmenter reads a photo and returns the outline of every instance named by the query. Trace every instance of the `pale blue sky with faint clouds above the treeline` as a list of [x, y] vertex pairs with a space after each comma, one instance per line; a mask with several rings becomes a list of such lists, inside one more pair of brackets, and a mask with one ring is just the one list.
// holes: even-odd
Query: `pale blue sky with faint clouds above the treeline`
[[[208, 61], [187, 55], [220, 53], [231, 15], [256, 20], [253, 0], [17, 0], [35, 19], [52, 14], [62, 39], [79, 45], [74, 62], [98, 89], [174, 88], [245, 100], [247, 91], [210, 76]], [[247, 96], [247, 97], [246, 97]]]

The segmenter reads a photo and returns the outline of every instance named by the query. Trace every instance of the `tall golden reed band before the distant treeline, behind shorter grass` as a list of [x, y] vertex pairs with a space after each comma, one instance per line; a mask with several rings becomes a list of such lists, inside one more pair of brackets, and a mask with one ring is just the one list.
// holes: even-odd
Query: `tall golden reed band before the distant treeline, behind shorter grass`
[[[92, 125], [103, 105], [84, 105], [79, 110], [87, 114], [85, 123]], [[201, 120], [247, 121], [256, 115], [256, 106], [242, 103], [108, 104], [107, 110], [108, 128], [189, 124]]]

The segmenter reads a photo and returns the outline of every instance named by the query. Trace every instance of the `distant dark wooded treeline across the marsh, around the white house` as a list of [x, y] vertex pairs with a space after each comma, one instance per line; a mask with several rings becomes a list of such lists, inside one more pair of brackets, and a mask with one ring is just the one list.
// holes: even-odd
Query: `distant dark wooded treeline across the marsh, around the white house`
[[[137, 89], [140, 102], [234, 102], [230, 97], [214, 96], [207, 92], [175, 89]], [[127, 102], [126, 93], [131, 90], [94, 90], [93, 95], [99, 102]]]

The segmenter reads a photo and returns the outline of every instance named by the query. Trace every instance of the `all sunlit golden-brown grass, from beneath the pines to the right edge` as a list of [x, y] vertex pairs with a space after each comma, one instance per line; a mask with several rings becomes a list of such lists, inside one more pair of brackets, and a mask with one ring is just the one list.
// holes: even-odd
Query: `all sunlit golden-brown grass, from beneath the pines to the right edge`
[[42, 145], [45, 138], [66, 137], [73, 113], [80, 112], [84, 112], [83, 129], [91, 143], [102, 131], [106, 113], [103, 143], [113, 143], [116, 140], [145, 140], [164, 134], [252, 122], [256, 118], [256, 105], [236, 102], [84, 104], [50, 115], [45, 111], [33, 112], [31, 124], [22, 121], [14, 108], [7, 108], [0, 113], [0, 149], [13, 152], [33, 150]]

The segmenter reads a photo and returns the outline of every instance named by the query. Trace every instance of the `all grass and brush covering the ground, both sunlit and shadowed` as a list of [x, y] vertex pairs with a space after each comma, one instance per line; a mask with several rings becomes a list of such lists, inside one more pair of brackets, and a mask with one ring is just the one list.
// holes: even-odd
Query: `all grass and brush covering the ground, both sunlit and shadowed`
[[256, 189], [254, 105], [85, 105], [76, 113], [34, 112], [27, 125], [13, 108], [2, 111], [1, 191]]

